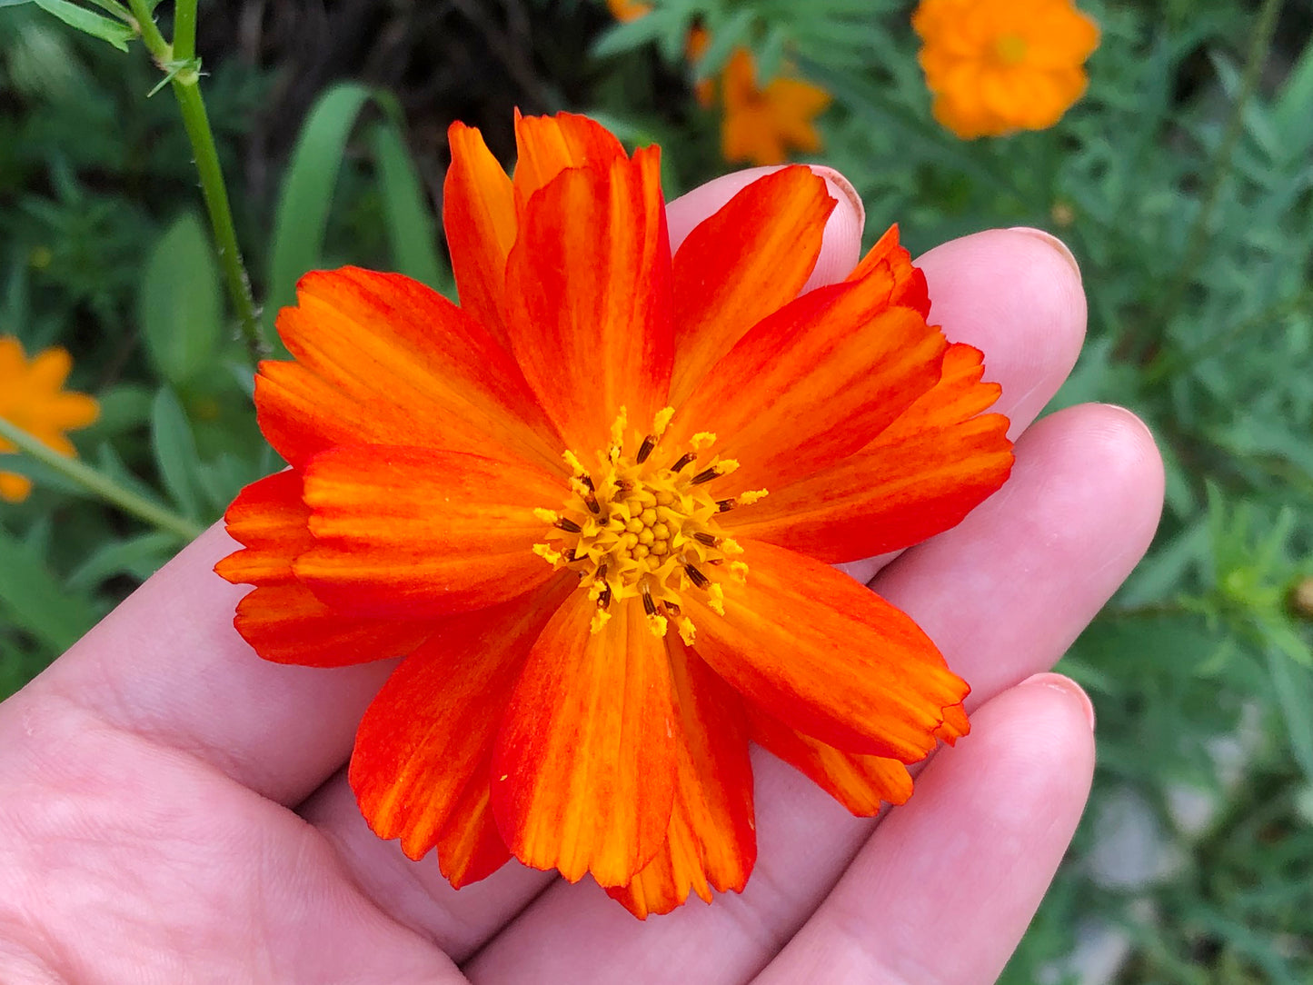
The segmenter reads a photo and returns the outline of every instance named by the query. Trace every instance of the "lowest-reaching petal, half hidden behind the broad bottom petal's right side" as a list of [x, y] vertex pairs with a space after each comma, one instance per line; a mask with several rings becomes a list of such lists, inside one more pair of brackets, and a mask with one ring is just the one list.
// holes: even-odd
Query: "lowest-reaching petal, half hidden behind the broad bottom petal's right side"
[[737, 693], [679, 637], [666, 637], [680, 711], [675, 805], [666, 844], [607, 893], [639, 919], [670, 913], [689, 892], [743, 892], [756, 860], [747, 720]]

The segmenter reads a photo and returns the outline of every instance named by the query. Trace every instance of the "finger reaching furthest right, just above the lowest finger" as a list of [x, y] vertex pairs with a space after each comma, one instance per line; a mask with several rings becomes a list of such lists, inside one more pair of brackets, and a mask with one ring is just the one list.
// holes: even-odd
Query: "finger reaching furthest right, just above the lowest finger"
[[[1162, 466], [1142, 424], [1085, 406], [1018, 441], [1002, 494], [877, 579], [972, 684], [974, 703], [1049, 668], [1152, 538]], [[754, 758], [756, 869], [742, 896], [635, 922], [591, 885], [555, 884], [466, 967], [475, 981], [742, 981], [785, 944], [872, 822], [779, 760]], [[911, 802], [916, 802], [913, 795]], [[571, 947], [562, 948], [567, 939]]]

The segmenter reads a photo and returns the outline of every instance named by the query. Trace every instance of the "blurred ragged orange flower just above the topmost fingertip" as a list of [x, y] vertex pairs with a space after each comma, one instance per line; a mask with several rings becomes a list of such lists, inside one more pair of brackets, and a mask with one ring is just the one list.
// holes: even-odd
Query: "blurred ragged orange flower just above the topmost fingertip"
[[747, 49], [730, 55], [721, 76], [725, 121], [721, 154], [725, 160], [783, 164], [790, 147], [821, 150], [811, 121], [830, 105], [830, 93], [801, 79], [779, 77], [764, 89], [756, 85], [756, 64]]

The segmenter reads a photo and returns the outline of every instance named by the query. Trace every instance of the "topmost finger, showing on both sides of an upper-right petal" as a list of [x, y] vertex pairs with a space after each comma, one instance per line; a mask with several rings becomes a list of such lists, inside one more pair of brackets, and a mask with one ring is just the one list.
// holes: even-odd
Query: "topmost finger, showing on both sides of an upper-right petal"
[[[817, 257], [817, 265], [802, 290], [842, 281], [851, 273], [861, 255], [861, 226], [867, 215], [861, 206], [861, 198], [848, 179], [822, 164], [811, 164], [810, 168], [825, 179], [826, 188], [835, 200], [835, 208], [825, 226], [821, 256]], [[679, 250], [679, 244], [697, 223], [716, 213], [735, 193], [772, 171], [779, 171], [779, 168], [735, 171], [733, 175], [725, 175], [705, 185], [699, 185], [666, 206], [671, 252]]]

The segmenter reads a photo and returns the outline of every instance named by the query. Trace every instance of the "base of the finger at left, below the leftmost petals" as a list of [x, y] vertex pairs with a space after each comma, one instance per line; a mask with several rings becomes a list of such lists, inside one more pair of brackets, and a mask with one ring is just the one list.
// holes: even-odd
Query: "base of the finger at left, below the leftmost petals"
[[74, 704], [272, 800], [303, 800], [345, 762], [356, 724], [395, 662], [324, 671], [261, 661], [232, 628], [247, 588], [213, 570], [235, 549], [211, 527], [0, 714]]

